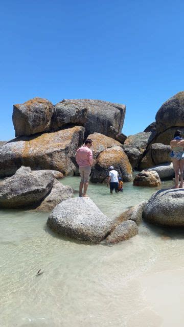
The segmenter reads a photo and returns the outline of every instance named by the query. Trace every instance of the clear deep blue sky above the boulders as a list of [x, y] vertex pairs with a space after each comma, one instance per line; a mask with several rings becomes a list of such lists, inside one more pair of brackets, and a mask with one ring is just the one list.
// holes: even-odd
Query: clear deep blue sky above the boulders
[[178, 0], [2, 0], [0, 140], [33, 97], [122, 103], [123, 132], [143, 131], [184, 90], [183, 14]]

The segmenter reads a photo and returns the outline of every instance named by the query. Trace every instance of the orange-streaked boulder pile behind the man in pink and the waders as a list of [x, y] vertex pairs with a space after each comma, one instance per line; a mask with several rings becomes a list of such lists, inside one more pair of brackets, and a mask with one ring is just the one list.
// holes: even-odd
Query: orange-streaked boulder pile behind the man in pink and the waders
[[[121, 133], [125, 109], [125, 105], [88, 99], [53, 105], [49, 100], [34, 98], [14, 105], [17, 137], [0, 147], [0, 178], [13, 175], [21, 166], [78, 175], [76, 151], [90, 137], [94, 141], [91, 181], [103, 182], [107, 166], [112, 164], [125, 181], [132, 180], [131, 165], [122, 148], [126, 139]], [[101, 177], [97, 180], [99, 167]]]

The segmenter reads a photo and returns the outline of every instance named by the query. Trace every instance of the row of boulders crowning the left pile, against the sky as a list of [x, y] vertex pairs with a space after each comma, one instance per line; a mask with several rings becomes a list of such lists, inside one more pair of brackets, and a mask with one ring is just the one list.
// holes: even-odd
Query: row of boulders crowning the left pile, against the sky
[[13, 124], [16, 136], [30, 136], [55, 131], [67, 125], [85, 127], [85, 137], [99, 132], [108, 135], [110, 126], [121, 132], [125, 118], [125, 105], [101, 100], [62, 100], [55, 106], [41, 98], [14, 105]]

